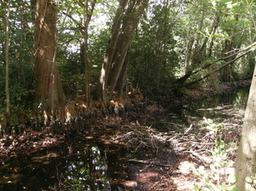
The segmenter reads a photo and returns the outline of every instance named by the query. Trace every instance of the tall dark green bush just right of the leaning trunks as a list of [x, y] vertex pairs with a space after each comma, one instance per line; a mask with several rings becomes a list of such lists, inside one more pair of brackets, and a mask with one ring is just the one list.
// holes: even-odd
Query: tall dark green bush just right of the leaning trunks
[[151, 14], [143, 18], [126, 57], [129, 82], [147, 96], [168, 95], [173, 73], [179, 67], [170, 25], [176, 16], [172, 6], [167, 2], [152, 5]]

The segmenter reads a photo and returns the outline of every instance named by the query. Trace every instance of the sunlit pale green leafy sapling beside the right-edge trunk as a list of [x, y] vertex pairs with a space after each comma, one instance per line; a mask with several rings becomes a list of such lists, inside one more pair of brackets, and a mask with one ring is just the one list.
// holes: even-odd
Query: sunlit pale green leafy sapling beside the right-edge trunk
[[[221, 177], [220, 170], [225, 169], [229, 163], [229, 154], [234, 151], [236, 148], [235, 143], [229, 142], [225, 143], [221, 140], [221, 135], [218, 133], [220, 130], [224, 130], [224, 124], [214, 124], [212, 119], [205, 119], [207, 124], [207, 130], [210, 133], [216, 136], [215, 145], [212, 148], [212, 164], [208, 166], [200, 166], [198, 169], [191, 166], [191, 170], [195, 174], [195, 176], [200, 177], [201, 182], [204, 182], [207, 187], [200, 188], [199, 186], [195, 185], [195, 190], [212, 190], [212, 191], [220, 191], [220, 190], [232, 190], [232, 191], [239, 191], [238, 188], [235, 188], [234, 185], [236, 183], [236, 175], [230, 174], [229, 177]], [[211, 170], [211, 173], [208, 175], [206, 168]], [[228, 184], [222, 184], [228, 182]]]

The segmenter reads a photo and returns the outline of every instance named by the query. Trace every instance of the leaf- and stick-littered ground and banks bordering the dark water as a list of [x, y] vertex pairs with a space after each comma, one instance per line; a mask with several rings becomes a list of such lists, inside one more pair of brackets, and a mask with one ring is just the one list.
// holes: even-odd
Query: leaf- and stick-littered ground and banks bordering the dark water
[[[191, 166], [195, 169], [204, 166], [204, 170], [200, 167], [201, 175], [209, 177], [214, 184], [217, 182], [227, 184], [227, 176], [234, 172], [236, 148], [227, 156], [223, 156], [224, 158], [219, 158], [221, 154], [224, 154], [221, 152], [212, 156], [211, 151], [218, 134], [209, 133], [205, 129], [199, 130], [194, 124], [188, 126], [172, 124], [172, 128], [163, 132], [151, 128], [142, 121], [154, 120], [170, 107], [246, 87], [250, 83], [249, 80], [243, 80], [237, 82], [236, 86], [223, 84], [218, 92], [212, 89], [186, 90], [182, 99], [172, 100], [168, 107], [159, 102], [148, 101], [147, 113], [140, 116], [135, 113], [129, 117], [127, 115], [126, 118], [97, 121], [96, 124], [91, 125], [90, 130], [86, 131], [87, 135], [83, 132], [82, 135], [58, 136], [27, 130], [22, 136], [6, 136], [0, 139], [0, 162], [5, 157], [15, 157], [18, 152], [32, 153], [38, 149], [55, 147], [66, 142], [67, 138], [75, 139], [75, 136], [93, 134], [93, 136], [104, 139], [104, 142], [123, 144], [125, 149], [131, 151], [129, 159], [120, 159], [130, 164], [128, 168], [131, 174], [136, 174], [136, 180], [122, 182], [125, 190], [194, 190], [195, 185], [204, 187], [206, 184], [193, 174]], [[238, 145], [242, 119], [242, 114], [225, 119], [224, 124], [227, 130], [219, 131], [223, 135], [221, 140], [224, 143], [234, 142], [236, 146]], [[218, 159], [224, 159], [225, 163], [217, 162]], [[213, 169], [211, 171], [210, 165], [212, 164], [216, 171]], [[115, 184], [114, 180], [111, 183]]]

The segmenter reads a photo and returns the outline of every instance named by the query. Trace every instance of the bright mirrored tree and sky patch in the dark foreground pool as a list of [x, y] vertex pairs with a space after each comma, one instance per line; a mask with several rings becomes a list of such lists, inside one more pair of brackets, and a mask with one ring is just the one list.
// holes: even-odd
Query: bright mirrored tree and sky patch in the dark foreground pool
[[105, 165], [99, 148], [95, 145], [84, 149], [84, 153], [73, 153], [65, 161], [64, 187], [68, 190], [102, 190], [108, 188]]

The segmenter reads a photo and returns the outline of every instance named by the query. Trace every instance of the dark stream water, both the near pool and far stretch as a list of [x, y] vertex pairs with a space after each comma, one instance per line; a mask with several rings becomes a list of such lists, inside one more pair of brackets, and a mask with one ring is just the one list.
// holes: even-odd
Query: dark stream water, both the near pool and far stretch
[[[172, 124], [189, 125], [203, 117], [222, 122], [230, 116], [241, 116], [248, 90], [172, 108], [153, 127], [167, 131], [173, 129]], [[122, 182], [136, 176], [125, 163], [129, 154], [118, 144], [99, 143], [91, 137], [22, 153], [1, 161], [0, 190], [125, 190]]]

